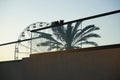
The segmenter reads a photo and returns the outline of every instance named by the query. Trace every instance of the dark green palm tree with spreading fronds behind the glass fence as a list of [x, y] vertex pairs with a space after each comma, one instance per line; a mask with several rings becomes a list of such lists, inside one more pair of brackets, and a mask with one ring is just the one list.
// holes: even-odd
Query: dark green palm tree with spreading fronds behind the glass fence
[[81, 48], [83, 44], [98, 46], [94, 41], [89, 41], [90, 38], [100, 38], [100, 35], [93, 33], [99, 30], [95, 25], [88, 25], [83, 29], [80, 28], [81, 22], [76, 22], [74, 26], [72, 23], [67, 26], [59, 26], [52, 28], [53, 33], [39, 32], [40, 38], [47, 41], [37, 44], [37, 46], [50, 46], [48, 50], [69, 50]]

